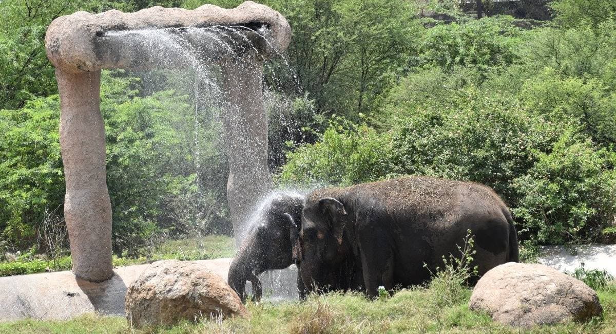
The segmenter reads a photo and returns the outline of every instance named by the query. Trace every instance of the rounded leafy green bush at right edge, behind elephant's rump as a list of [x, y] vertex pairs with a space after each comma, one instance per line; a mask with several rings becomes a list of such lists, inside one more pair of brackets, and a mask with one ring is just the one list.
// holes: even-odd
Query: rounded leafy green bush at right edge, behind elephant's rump
[[535, 154], [537, 163], [514, 180], [521, 198], [513, 213], [524, 220], [522, 232], [541, 243], [598, 237], [616, 212], [616, 178], [609, 172], [616, 155], [571, 132], [551, 152]]

